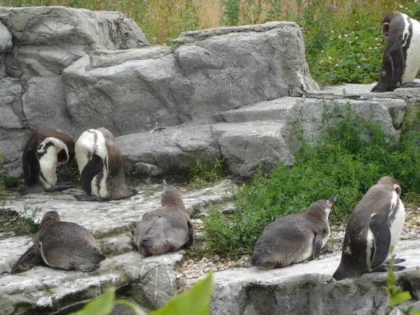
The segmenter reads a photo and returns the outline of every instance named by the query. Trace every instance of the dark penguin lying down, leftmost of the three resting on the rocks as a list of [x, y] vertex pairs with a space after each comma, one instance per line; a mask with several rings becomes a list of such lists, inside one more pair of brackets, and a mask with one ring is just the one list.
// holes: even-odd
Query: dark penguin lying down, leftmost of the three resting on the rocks
[[27, 255], [38, 247], [45, 264], [55, 269], [90, 272], [105, 259], [97, 241], [86, 228], [60, 221], [56, 211], [44, 214], [34, 245], [15, 262], [11, 273], [15, 274]]

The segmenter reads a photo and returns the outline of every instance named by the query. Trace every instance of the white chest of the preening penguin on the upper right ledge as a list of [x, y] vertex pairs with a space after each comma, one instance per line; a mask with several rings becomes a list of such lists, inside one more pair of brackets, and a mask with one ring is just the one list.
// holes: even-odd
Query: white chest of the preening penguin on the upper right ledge
[[[412, 24], [412, 38], [408, 42], [404, 38], [409, 36], [409, 22]], [[420, 23], [410, 19], [405, 15], [405, 29], [403, 33], [402, 49], [408, 45], [406, 52], [406, 60], [404, 73], [402, 74], [401, 83], [411, 83], [416, 78], [420, 70]]]

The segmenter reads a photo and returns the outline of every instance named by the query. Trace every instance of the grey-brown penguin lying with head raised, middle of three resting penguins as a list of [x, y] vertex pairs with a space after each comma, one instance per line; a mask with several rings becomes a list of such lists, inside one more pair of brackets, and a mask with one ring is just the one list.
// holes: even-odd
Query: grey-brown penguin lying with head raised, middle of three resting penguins
[[193, 225], [182, 196], [163, 181], [161, 207], [144, 214], [134, 230], [134, 245], [140, 253], [161, 255], [193, 244]]

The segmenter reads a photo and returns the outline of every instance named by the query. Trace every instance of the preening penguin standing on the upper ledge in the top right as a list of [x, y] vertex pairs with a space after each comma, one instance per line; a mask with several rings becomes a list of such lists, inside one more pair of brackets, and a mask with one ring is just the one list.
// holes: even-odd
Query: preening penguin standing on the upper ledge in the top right
[[420, 73], [420, 23], [393, 11], [382, 20], [386, 39], [381, 80], [370, 92], [388, 92], [397, 87], [420, 87], [413, 82]]

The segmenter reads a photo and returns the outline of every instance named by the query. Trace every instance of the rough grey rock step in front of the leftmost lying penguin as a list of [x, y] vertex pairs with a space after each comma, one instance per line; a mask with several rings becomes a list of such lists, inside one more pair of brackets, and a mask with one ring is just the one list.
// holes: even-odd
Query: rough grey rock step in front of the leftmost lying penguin
[[[3, 253], [3, 251], [2, 251]], [[129, 286], [130, 295], [151, 308], [164, 305], [178, 290], [174, 265], [183, 251], [144, 258], [132, 251], [107, 258], [94, 272], [35, 267], [0, 277], [1, 315], [60, 311], [92, 300], [109, 288]]]

